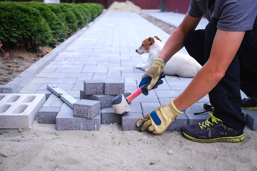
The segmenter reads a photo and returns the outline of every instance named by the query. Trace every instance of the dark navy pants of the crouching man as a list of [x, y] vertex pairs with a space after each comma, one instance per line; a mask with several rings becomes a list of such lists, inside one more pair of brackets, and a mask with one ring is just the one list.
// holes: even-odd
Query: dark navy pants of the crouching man
[[[218, 20], [213, 19], [204, 30], [189, 32], [184, 46], [202, 66], [210, 57], [212, 42], [217, 31]], [[226, 56], [224, 56], [226, 58]], [[244, 113], [240, 107], [240, 89], [249, 97], [257, 90], [257, 25], [245, 33], [243, 41], [229, 65], [224, 77], [209, 92], [210, 103], [214, 106], [214, 116], [238, 130], [245, 126]]]

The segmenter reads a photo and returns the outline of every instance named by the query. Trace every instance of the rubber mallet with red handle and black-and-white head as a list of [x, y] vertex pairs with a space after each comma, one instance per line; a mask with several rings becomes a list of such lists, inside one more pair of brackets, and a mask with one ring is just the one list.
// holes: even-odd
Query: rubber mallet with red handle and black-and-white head
[[[163, 73], [162, 76], [159, 78], [162, 79], [165, 77]], [[147, 84], [147, 83], [146, 83]], [[129, 95], [127, 98], [124, 97], [123, 94], [117, 95], [112, 99], [112, 107], [118, 115], [125, 115], [130, 111], [130, 107], [128, 103], [130, 103], [134, 98], [140, 95], [143, 91], [146, 91], [146, 84], [142, 85], [139, 89], [137, 89], [134, 93]]]

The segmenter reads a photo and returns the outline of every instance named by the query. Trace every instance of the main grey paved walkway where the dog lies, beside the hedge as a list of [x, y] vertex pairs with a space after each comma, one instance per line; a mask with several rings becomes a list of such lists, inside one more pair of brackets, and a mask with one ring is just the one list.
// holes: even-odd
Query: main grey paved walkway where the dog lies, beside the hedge
[[[156, 35], [164, 43], [169, 37], [169, 34], [135, 13], [106, 13], [20, 92], [49, 92], [46, 85], [57, 84], [79, 98], [83, 80], [105, 80], [107, 75], [125, 76], [125, 90], [134, 92], [144, 73], [135, 66], [143, 64], [148, 58], [148, 54], [139, 55], [135, 50], [142, 40]], [[178, 96], [190, 80], [192, 78], [166, 76], [164, 84], [151, 90], [148, 96], [140, 95], [132, 102], [140, 103], [142, 112], [146, 114]], [[191, 109], [202, 111], [200, 106], [209, 102], [208, 95], [198, 102]], [[194, 110], [188, 109], [187, 112], [193, 113]]]

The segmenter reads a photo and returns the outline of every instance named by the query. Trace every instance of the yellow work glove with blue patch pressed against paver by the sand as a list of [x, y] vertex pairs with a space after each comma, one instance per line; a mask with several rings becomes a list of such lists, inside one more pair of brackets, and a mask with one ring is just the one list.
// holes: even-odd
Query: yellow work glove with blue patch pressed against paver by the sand
[[[183, 111], [184, 112], [184, 111]], [[161, 134], [174, 122], [176, 117], [183, 113], [173, 104], [173, 99], [166, 105], [161, 105], [148, 115], [143, 116], [136, 123], [141, 131], [151, 131], [154, 134]]]

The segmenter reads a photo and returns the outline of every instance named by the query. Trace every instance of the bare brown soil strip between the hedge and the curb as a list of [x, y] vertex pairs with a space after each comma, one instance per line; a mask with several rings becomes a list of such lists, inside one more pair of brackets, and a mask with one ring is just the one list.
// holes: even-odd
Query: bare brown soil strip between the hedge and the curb
[[[3, 48], [3, 47], [2, 47]], [[9, 58], [15, 64], [15, 66], [21, 70], [25, 71], [33, 63], [37, 62], [40, 58], [45, 56], [48, 52], [49, 46], [40, 47], [38, 52], [27, 52], [25, 49], [3, 49], [5, 53], [9, 52]], [[5, 85], [9, 81], [18, 77], [21, 72], [19, 72], [5, 57], [5, 54], [0, 52], [0, 85]]]

